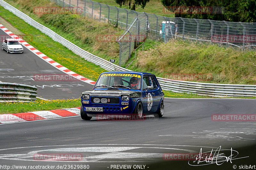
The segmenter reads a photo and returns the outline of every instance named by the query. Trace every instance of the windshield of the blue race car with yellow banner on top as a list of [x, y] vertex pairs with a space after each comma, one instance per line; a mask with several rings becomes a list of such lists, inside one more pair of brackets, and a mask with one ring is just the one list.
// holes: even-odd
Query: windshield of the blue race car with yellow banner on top
[[122, 89], [140, 89], [141, 76], [126, 73], [101, 74], [95, 88], [108, 88], [109, 86]]

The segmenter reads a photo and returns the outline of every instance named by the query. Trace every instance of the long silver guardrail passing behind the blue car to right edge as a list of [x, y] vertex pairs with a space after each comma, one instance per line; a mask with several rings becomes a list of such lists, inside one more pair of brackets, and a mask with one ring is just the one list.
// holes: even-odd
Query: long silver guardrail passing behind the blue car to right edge
[[[26, 21], [28, 24], [34, 26], [44, 34], [51, 37], [53, 40], [59, 42], [63, 46], [67, 47], [77, 55], [83, 57], [85, 60], [90, 61], [108, 71], [131, 71], [123, 67], [119, 67], [107, 60], [104, 60], [96, 55], [93, 55], [75, 44], [64, 39], [57, 33], [53, 32], [51, 29], [39, 24], [32, 18], [28, 17], [23, 12], [14, 8], [12, 5], [0, 0], [0, 5], [5, 9], [11, 11], [13, 14], [19, 18]], [[195, 93], [204, 96], [216, 96], [216, 97], [226, 97], [226, 96], [256, 96], [256, 85], [236, 85], [236, 84], [212, 84], [212, 83], [199, 83], [190, 81], [176, 81], [170, 79], [164, 79], [157, 77], [162, 89], [171, 90], [173, 92], [186, 92]]]

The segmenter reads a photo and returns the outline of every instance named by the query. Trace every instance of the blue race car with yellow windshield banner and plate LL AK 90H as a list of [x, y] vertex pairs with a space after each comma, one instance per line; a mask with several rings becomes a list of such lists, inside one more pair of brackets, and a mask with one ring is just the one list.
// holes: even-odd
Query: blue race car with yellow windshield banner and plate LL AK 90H
[[81, 118], [99, 115], [162, 117], [164, 93], [156, 76], [143, 72], [101, 73], [92, 90], [81, 95]]

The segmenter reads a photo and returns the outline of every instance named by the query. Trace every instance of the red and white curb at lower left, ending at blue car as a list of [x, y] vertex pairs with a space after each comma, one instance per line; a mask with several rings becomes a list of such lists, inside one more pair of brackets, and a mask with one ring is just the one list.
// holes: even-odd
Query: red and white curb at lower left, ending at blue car
[[80, 115], [80, 107], [46, 111], [31, 111], [26, 113], [15, 114], [0, 114], [0, 124], [25, 122], [32, 120], [43, 120], [77, 115]]

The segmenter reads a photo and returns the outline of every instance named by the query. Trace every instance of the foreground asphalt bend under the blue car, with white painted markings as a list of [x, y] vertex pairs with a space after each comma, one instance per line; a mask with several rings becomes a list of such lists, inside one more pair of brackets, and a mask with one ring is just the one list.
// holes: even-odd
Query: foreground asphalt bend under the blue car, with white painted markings
[[[145, 169], [233, 169], [234, 165], [238, 168], [255, 164], [255, 122], [211, 119], [212, 114], [255, 114], [254, 100], [166, 98], [164, 102], [164, 117], [141, 121], [83, 121], [76, 116], [1, 124], [1, 165], [89, 165], [90, 169], [113, 169], [111, 165], [125, 164], [145, 165]], [[191, 166], [188, 160], [163, 159], [164, 153], [199, 153], [201, 147], [202, 152], [208, 152], [219, 146], [221, 150], [228, 149], [220, 151], [227, 157], [232, 147], [233, 155], [237, 151], [236, 158], [241, 159], [219, 166]], [[79, 153], [83, 159], [39, 161], [35, 160], [38, 153]]]

